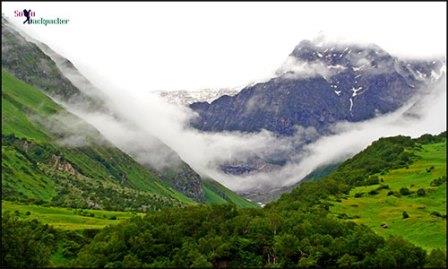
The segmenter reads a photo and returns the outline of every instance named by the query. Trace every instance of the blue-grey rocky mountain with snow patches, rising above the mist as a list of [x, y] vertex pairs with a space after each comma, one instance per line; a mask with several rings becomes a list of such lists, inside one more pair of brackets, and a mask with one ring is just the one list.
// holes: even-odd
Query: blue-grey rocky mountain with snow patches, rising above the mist
[[302, 41], [276, 77], [190, 107], [203, 131], [293, 135], [296, 126], [328, 133], [336, 122], [358, 122], [396, 110], [440, 78], [439, 60], [400, 60], [380, 47]]

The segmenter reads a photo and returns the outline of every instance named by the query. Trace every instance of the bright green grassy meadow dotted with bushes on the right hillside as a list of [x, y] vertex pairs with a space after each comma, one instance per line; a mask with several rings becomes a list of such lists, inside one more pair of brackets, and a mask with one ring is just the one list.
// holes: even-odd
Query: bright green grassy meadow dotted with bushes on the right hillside
[[[407, 187], [411, 191], [419, 188], [426, 190], [424, 197], [415, 193], [410, 196], [387, 196], [390, 190], [381, 190], [377, 195], [367, 193], [379, 185], [356, 187], [350, 191], [347, 199], [334, 203], [334, 214], [345, 213], [348, 216], [359, 216], [353, 221], [371, 227], [381, 235], [400, 235], [425, 249], [446, 249], [446, 219], [431, 216], [430, 213], [438, 211], [446, 215], [446, 184], [431, 187], [432, 179], [446, 175], [446, 141], [423, 145], [416, 151], [421, 158], [416, 160], [408, 169], [391, 170], [381, 176], [384, 183], [392, 191], [399, 191]], [[434, 166], [428, 173], [427, 168]], [[364, 192], [360, 198], [355, 193]], [[402, 218], [402, 212], [409, 213], [408, 219]], [[381, 228], [386, 223], [388, 228]]]

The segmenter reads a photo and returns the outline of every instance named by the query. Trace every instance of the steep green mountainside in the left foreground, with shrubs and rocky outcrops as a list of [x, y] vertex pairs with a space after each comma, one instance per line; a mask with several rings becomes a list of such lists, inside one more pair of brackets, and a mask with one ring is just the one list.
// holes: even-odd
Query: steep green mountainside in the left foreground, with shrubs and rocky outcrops
[[[98, 140], [102, 144], [92, 142]], [[193, 203], [7, 71], [2, 71], [2, 198], [120, 210]]]

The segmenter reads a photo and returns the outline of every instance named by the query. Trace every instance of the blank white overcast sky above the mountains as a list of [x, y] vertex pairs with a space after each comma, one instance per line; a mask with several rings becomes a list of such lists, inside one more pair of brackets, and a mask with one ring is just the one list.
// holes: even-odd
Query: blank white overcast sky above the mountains
[[[23, 25], [14, 10], [68, 18]], [[324, 33], [400, 56], [445, 56], [446, 3], [27, 3], [3, 14], [100, 87], [235, 87], [273, 74], [294, 46]]]

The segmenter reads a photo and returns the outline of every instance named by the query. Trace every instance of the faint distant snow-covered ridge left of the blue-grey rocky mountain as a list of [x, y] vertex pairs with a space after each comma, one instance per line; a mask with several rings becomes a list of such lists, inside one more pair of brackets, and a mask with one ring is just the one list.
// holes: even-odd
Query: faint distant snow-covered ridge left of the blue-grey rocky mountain
[[195, 102], [212, 102], [221, 96], [233, 96], [238, 89], [204, 89], [196, 91], [161, 91], [159, 95], [168, 103], [175, 105], [190, 105]]

